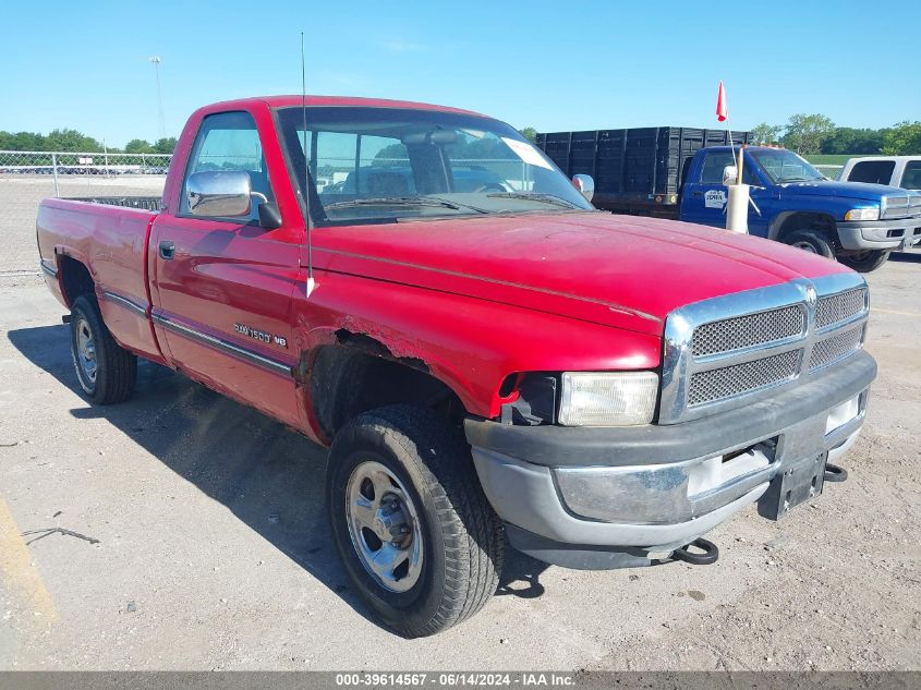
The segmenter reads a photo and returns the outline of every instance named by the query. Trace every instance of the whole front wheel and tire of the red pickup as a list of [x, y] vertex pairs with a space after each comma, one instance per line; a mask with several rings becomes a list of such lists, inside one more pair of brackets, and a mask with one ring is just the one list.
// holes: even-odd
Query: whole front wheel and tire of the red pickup
[[[462, 432], [427, 409], [379, 408], [343, 426], [329, 451], [327, 509], [352, 584], [405, 638], [470, 618], [498, 586], [501, 523]], [[372, 515], [384, 516], [374, 529]]]

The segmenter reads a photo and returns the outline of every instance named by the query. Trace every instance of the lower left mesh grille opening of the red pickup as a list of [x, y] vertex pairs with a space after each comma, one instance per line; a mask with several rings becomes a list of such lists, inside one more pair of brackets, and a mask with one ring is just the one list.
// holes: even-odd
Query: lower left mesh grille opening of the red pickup
[[793, 378], [802, 350], [790, 350], [752, 362], [699, 372], [691, 376], [688, 407], [713, 402]]

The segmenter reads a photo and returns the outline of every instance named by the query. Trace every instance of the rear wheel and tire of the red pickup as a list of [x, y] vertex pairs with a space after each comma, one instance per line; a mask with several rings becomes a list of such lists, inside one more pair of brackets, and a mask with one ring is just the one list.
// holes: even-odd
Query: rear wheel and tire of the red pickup
[[99, 306], [85, 294], [71, 308], [71, 355], [80, 387], [90, 402], [122, 402], [134, 392], [137, 358], [114, 341]]

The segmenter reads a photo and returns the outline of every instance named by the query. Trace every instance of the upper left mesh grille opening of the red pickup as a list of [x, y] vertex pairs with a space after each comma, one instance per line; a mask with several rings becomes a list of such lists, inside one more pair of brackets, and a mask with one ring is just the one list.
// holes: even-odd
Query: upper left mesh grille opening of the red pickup
[[805, 313], [787, 306], [759, 314], [711, 322], [694, 329], [694, 356], [730, 352], [799, 336], [805, 330]]

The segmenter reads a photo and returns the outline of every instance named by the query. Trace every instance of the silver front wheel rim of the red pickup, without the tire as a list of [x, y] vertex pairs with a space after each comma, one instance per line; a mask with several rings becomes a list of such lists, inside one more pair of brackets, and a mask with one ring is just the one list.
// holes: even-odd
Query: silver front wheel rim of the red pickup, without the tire
[[346, 486], [346, 522], [352, 546], [380, 586], [407, 592], [422, 573], [419, 513], [396, 474], [379, 462], [359, 464]]

